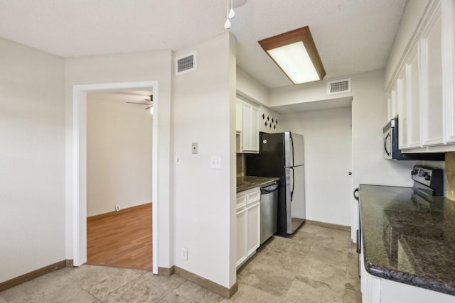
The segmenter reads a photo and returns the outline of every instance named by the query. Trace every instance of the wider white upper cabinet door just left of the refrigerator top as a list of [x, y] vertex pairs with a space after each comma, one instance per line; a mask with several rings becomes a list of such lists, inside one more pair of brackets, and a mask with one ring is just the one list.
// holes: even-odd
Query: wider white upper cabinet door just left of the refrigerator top
[[259, 153], [259, 107], [243, 101], [242, 153]]

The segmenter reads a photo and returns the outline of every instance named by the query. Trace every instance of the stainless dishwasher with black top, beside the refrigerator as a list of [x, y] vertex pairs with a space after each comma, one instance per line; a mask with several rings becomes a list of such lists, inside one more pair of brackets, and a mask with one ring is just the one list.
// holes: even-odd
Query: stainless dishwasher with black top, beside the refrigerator
[[261, 187], [261, 245], [277, 232], [278, 184]]

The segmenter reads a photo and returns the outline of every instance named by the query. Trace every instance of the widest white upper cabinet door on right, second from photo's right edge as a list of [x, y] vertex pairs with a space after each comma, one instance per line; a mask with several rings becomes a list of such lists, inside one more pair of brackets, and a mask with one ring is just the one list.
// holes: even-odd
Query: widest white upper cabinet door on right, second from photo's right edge
[[419, 40], [422, 146], [443, 143], [441, 31], [439, 6]]

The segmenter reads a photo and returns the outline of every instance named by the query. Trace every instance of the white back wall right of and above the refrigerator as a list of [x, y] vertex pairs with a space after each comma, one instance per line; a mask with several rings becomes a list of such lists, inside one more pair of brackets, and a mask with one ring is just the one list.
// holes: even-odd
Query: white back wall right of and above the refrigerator
[[282, 114], [281, 121], [304, 136], [306, 219], [350, 226], [350, 107]]

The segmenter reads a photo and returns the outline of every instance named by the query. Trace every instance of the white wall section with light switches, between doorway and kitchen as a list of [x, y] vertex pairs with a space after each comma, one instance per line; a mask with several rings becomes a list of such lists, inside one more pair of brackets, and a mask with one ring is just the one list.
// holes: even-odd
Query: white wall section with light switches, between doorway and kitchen
[[[175, 55], [194, 50], [198, 70], [174, 78], [175, 265], [231, 287], [235, 282], [235, 95], [231, 87], [229, 33], [218, 35]], [[233, 85], [232, 85], [233, 84]], [[198, 154], [191, 154], [191, 143]], [[220, 156], [222, 169], [210, 169]], [[231, 177], [232, 176], [232, 177]], [[188, 249], [188, 260], [181, 258]]]

